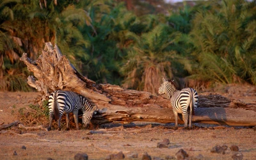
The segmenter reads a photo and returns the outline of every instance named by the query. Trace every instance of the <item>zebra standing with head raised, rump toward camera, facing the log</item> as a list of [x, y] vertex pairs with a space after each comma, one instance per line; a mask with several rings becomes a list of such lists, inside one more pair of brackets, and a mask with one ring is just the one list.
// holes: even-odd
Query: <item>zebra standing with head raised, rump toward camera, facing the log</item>
[[192, 113], [195, 115], [195, 108], [198, 105], [198, 94], [193, 88], [184, 88], [182, 90], [176, 90], [173, 81], [166, 81], [163, 78], [163, 83], [158, 90], [159, 95], [164, 93], [168, 95], [171, 100], [173, 113], [175, 116], [175, 127], [178, 127], [178, 113], [182, 114], [184, 121], [184, 127], [192, 127]]

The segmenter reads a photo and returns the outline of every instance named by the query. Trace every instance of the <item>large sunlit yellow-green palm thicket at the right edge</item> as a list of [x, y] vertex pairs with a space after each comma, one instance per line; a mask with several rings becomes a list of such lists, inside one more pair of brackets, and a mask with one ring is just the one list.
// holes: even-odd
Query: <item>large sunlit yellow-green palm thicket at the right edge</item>
[[190, 33], [199, 65], [197, 78], [217, 83], [256, 84], [255, 3], [214, 1], [211, 6], [211, 10], [198, 10]]

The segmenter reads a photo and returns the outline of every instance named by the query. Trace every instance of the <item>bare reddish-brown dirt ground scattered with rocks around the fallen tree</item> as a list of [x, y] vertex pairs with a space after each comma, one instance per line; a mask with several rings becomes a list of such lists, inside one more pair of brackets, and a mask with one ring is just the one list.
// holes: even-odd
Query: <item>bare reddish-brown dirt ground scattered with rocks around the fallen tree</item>
[[[236, 95], [245, 102], [256, 100], [254, 91], [239, 95], [233, 92], [236, 91], [230, 89], [223, 95], [228, 98]], [[19, 120], [15, 111], [34, 104], [37, 95], [36, 92], [0, 92], [0, 125]], [[187, 159], [233, 159], [232, 156], [238, 153], [243, 154], [243, 159], [256, 159], [255, 127], [195, 124], [189, 131], [182, 128], [180, 125], [174, 130], [173, 124], [79, 131], [11, 127], [0, 131], [0, 159], [74, 159], [77, 153], [86, 153], [88, 159], [106, 159], [110, 154], [121, 151], [125, 159], [132, 159], [132, 156], [133, 159], [141, 159], [145, 152], [152, 159], [176, 159], [175, 154], [181, 148], [187, 152]], [[170, 140], [168, 148], [157, 147], [157, 143], [165, 138]], [[212, 153], [216, 145], [227, 145], [228, 148], [223, 154]], [[232, 145], [237, 145], [239, 151], [230, 150]]]

